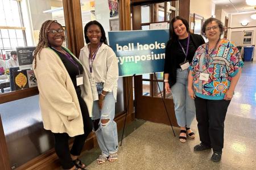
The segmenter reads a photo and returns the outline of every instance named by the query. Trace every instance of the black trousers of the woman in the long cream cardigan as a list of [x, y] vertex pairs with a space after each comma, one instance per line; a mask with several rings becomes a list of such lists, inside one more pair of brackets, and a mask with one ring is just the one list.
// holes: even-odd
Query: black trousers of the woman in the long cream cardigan
[[82, 120], [84, 122], [84, 134], [75, 137], [70, 152], [68, 146], [69, 135], [67, 133], [53, 133], [55, 137], [55, 151], [57, 156], [59, 156], [63, 169], [70, 169], [74, 166], [70, 154], [74, 156], [79, 156], [81, 154], [85, 140], [92, 131], [92, 120], [89, 117], [86, 104], [81, 97], [79, 97], [79, 104], [82, 112]]

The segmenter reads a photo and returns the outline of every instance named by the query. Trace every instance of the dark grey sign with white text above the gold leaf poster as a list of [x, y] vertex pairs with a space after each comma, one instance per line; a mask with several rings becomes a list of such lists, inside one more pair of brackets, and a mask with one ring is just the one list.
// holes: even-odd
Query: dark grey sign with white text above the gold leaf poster
[[19, 62], [19, 68], [21, 70], [31, 69], [33, 62], [33, 52], [35, 50], [35, 46], [26, 46], [26, 47], [17, 47], [17, 57]]

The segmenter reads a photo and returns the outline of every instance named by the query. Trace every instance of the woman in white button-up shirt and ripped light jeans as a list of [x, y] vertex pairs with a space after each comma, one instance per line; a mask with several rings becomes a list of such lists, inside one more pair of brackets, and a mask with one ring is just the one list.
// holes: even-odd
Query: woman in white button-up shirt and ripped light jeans
[[81, 49], [80, 61], [89, 75], [93, 92], [93, 129], [101, 155], [97, 163], [117, 160], [117, 124], [114, 121], [117, 100], [118, 61], [108, 46], [104, 28], [97, 21], [84, 27], [87, 45]]

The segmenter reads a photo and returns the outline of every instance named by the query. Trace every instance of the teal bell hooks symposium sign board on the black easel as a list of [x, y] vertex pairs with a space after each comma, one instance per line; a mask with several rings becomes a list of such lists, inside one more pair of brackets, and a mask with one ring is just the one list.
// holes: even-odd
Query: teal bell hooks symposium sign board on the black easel
[[109, 45], [118, 59], [119, 76], [162, 72], [168, 39], [168, 29], [109, 32]]

